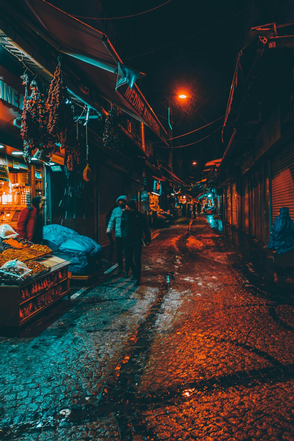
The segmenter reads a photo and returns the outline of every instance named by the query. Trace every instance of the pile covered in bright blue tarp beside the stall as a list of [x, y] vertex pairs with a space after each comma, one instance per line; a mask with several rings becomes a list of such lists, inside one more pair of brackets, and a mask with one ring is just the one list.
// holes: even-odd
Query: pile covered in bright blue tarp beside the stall
[[43, 239], [55, 254], [71, 262], [71, 273], [90, 274], [102, 267], [103, 248], [87, 236], [53, 224], [43, 227]]

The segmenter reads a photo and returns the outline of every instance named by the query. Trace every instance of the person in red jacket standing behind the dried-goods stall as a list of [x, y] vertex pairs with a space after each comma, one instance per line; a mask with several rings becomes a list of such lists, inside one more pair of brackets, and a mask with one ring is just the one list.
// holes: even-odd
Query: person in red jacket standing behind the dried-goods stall
[[42, 209], [45, 205], [44, 196], [36, 196], [32, 199], [32, 206], [22, 209], [17, 222], [17, 232], [22, 239], [33, 243], [43, 241]]

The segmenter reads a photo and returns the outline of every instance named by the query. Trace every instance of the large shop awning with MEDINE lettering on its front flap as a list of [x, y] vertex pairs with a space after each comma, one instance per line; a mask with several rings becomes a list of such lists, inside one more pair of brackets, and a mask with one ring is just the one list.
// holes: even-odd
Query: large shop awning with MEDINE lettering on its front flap
[[59, 52], [70, 56], [101, 97], [145, 123], [167, 143], [167, 132], [135, 83], [144, 74], [124, 66], [105, 34], [45, 0], [4, 3], [12, 15], [17, 15]]

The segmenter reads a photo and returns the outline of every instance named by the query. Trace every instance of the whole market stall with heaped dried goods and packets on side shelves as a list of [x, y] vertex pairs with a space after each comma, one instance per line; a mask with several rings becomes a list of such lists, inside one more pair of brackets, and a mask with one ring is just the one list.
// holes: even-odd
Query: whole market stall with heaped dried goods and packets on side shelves
[[70, 262], [45, 246], [0, 227], [0, 335], [19, 335], [28, 321], [66, 295], [70, 298]]

